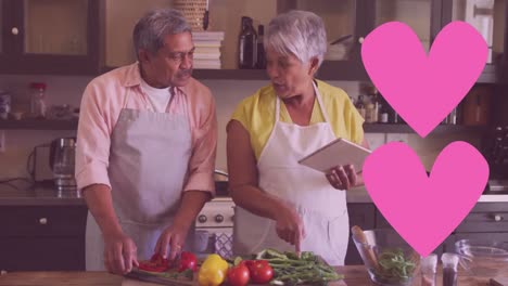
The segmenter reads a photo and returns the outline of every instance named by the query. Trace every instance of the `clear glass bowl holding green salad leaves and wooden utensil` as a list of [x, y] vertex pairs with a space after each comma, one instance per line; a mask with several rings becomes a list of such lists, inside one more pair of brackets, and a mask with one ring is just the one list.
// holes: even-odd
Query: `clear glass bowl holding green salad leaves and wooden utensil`
[[420, 255], [393, 230], [369, 230], [353, 237], [370, 280], [377, 285], [411, 285]]

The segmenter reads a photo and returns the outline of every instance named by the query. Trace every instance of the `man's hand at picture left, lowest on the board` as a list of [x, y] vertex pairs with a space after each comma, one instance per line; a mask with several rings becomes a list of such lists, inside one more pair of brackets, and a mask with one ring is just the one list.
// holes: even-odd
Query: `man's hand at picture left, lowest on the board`
[[124, 275], [139, 266], [135, 242], [124, 233], [104, 235], [104, 265], [110, 273]]

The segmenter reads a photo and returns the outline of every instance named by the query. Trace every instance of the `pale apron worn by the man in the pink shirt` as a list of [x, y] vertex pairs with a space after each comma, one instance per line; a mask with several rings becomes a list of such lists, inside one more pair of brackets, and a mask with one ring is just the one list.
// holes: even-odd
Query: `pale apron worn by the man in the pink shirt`
[[[154, 113], [126, 108], [128, 98], [129, 90], [111, 135], [107, 172], [122, 230], [136, 243], [138, 260], [147, 260], [178, 210], [191, 155], [191, 130], [186, 104], [176, 113]], [[189, 231], [188, 242], [193, 232]], [[103, 237], [90, 212], [86, 269], [105, 270]]]

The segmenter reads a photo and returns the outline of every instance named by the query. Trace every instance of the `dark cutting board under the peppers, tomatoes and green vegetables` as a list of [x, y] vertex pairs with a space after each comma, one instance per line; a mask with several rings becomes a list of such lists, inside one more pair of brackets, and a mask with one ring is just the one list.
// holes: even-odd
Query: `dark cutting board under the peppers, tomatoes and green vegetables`
[[[154, 274], [149, 274], [144, 272], [131, 272], [124, 277], [122, 286], [160, 286], [160, 285], [169, 285], [169, 286], [195, 286], [198, 282], [195, 281], [196, 274], [194, 275], [194, 281], [183, 281], [183, 280], [172, 280], [166, 277], [161, 277]], [[259, 285], [259, 286], [268, 286]], [[347, 286], [344, 281], [334, 281], [328, 283], [328, 286]]]

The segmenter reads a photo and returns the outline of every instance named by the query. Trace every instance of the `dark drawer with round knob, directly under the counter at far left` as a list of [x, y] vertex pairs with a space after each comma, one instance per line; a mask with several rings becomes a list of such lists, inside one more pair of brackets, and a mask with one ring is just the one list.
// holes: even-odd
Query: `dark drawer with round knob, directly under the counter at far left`
[[0, 237], [85, 236], [85, 206], [8, 206], [0, 208]]

